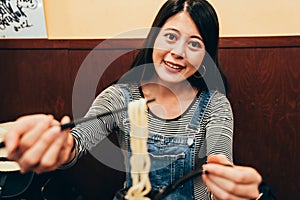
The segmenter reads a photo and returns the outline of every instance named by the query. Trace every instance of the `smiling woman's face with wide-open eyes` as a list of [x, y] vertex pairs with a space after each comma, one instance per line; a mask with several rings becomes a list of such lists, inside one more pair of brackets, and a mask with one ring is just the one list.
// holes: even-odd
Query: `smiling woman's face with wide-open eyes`
[[202, 37], [186, 12], [170, 17], [162, 26], [153, 49], [153, 63], [159, 78], [178, 83], [192, 76], [205, 55]]

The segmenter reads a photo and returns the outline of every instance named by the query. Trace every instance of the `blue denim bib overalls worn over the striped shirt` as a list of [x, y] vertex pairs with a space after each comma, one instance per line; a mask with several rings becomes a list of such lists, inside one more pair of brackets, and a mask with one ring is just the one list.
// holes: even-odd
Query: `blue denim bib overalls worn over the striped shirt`
[[[125, 98], [129, 102], [132, 100], [130, 92], [124, 92]], [[158, 191], [175, 182], [180, 177], [195, 169], [195, 135], [199, 133], [199, 127], [203, 118], [203, 113], [212, 93], [204, 92], [199, 101], [190, 123], [186, 126], [186, 131], [181, 135], [166, 135], [156, 132], [148, 133], [148, 152], [151, 158], [151, 169], [149, 178], [152, 190]], [[128, 95], [128, 96], [126, 96]], [[200, 95], [201, 96], [201, 95]], [[128, 114], [124, 116], [125, 155], [126, 172], [130, 172], [130, 128]], [[203, 136], [205, 137], [205, 136]], [[132, 185], [130, 173], [126, 173], [126, 188]], [[193, 180], [185, 182], [174, 192], [164, 198], [164, 200], [174, 199], [194, 199]]]

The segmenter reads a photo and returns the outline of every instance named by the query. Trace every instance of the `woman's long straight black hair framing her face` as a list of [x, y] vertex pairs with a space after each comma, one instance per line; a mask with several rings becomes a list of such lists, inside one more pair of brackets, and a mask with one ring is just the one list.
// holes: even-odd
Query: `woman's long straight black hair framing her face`
[[[173, 15], [185, 11], [190, 14], [194, 23], [196, 24], [199, 33], [203, 38], [203, 42], [206, 48], [206, 54], [204, 56], [202, 64], [206, 68], [206, 74], [210, 73], [209, 70], [212, 66], [216, 66], [218, 73], [221, 75], [221, 82], [225, 86], [225, 92], [227, 90], [227, 80], [219, 67], [218, 61], [218, 44], [219, 44], [219, 22], [217, 14], [210, 3], [206, 0], [168, 0], [160, 8], [156, 15], [152, 28], [148, 33], [148, 36], [144, 42], [144, 48], [142, 48], [137, 54], [135, 60], [132, 63], [131, 68], [137, 66], [144, 66], [138, 71], [141, 81], [151, 78], [154, 73], [154, 67], [152, 61], [152, 52], [154, 42], [159, 33], [160, 28], [165, 22]], [[212, 69], [215, 71], [214, 69]], [[201, 77], [199, 72], [196, 72], [194, 76], [188, 78], [188, 81], [192, 86], [198, 89], [218, 89], [219, 86], [209, 86], [206, 81]]]

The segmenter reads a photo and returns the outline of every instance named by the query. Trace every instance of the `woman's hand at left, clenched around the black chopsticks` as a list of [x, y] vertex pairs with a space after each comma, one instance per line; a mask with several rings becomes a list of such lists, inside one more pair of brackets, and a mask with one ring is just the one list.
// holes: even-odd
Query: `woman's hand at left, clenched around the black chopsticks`
[[53, 171], [69, 162], [74, 139], [69, 130], [61, 131], [61, 122], [52, 115], [36, 114], [20, 117], [4, 137], [8, 159], [18, 162], [21, 173]]

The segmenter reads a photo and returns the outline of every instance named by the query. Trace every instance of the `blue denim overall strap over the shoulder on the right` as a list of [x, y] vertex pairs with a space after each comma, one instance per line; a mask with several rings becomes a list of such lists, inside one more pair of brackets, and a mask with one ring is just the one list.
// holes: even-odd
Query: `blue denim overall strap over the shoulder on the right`
[[204, 113], [206, 111], [206, 107], [211, 100], [211, 97], [216, 93], [216, 91], [203, 91], [200, 94], [200, 100], [198, 106], [192, 116], [190, 123], [186, 126], [186, 131], [196, 130], [199, 131], [200, 123], [204, 117]]

